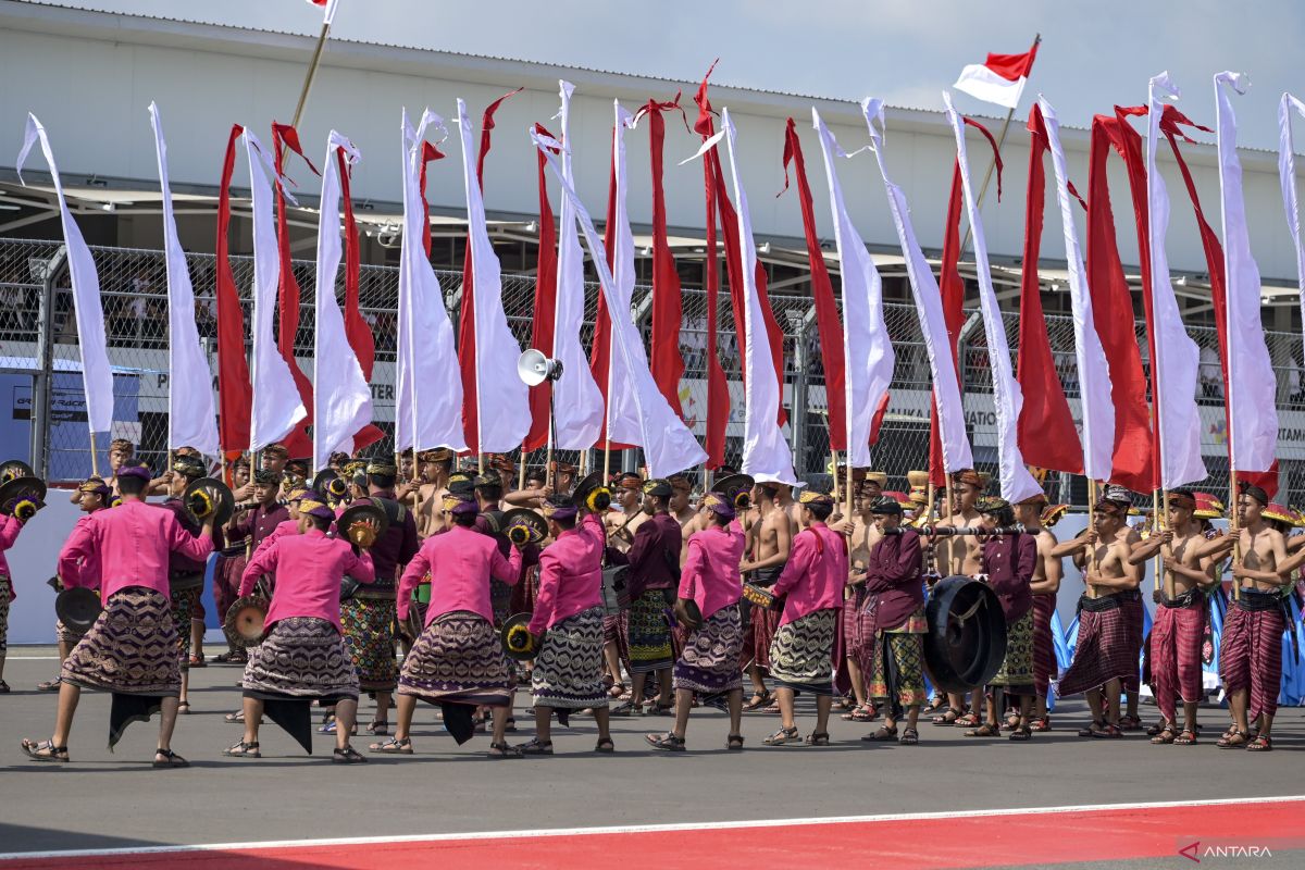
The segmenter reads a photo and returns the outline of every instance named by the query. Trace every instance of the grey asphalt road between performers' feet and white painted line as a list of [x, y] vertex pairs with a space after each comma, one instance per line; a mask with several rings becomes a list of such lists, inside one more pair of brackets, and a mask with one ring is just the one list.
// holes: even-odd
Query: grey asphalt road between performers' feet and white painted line
[[[869, 745], [868, 727], [831, 723], [833, 745], [763, 747], [778, 717], [744, 720], [748, 749], [727, 753], [727, 721], [694, 711], [689, 751], [645, 747], [642, 734], [664, 730], [668, 717], [613, 720], [617, 751], [596, 755], [594, 723], [555, 728], [552, 758], [496, 760], [488, 738], [458, 747], [419, 707], [416, 754], [372, 757], [365, 766], [329, 763], [331, 740], [316, 754], [301, 750], [274, 725], [262, 730], [261, 760], [227, 759], [221, 750], [240, 729], [222, 721], [239, 704], [240, 669], [210, 665], [192, 672], [193, 712], [181, 719], [174, 749], [193, 767], [149, 766], [157, 720], [129, 728], [115, 753], [106, 749], [108, 695], [84, 693], [69, 741], [70, 764], [37, 764], [20, 750], [22, 737], [46, 738], [54, 724], [54, 694], [38, 681], [57, 663], [48, 650], [10, 648], [0, 695], [0, 852], [89, 849], [159, 844], [266, 841], [315, 837], [398, 836], [437, 832], [517, 831], [612, 824], [826, 818], [1002, 807], [1189, 801], [1305, 792], [1305, 715], [1280, 711], [1275, 751], [1220, 751], [1214, 738], [1227, 721], [1202, 711], [1206, 738], [1191, 747], [1151, 746], [1130, 734], [1118, 741], [1083, 740], [1081, 703], [1053, 715], [1052, 733], [1028, 743], [967, 740], [959, 729], [921, 727], [916, 747]], [[521, 730], [531, 734], [519, 708]], [[363, 711], [367, 721], [368, 704]], [[1155, 708], [1143, 707], [1154, 719]], [[812, 729], [803, 708], [799, 727]], [[369, 738], [358, 738], [364, 743]], [[940, 833], [945, 833], [940, 831]], [[1174, 836], [1199, 831], [1174, 832]], [[1131, 866], [1146, 866], [1130, 862]], [[1177, 866], [1177, 865], [1165, 865]]]

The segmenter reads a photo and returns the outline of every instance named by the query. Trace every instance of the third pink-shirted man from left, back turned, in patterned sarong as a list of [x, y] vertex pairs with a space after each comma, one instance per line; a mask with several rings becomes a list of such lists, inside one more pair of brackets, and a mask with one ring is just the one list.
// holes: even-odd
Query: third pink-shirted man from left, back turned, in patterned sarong
[[521, 550], [504, 558], [499, 545], [474, 530], [476, 502], [449, 496], [445, 511], [453, 527], [425, 539], [407, 563], [398, 588], [398, 621], [407, 618], [412, 590], [431, 573], [431, 604], [422, 637], [403, 659], [399, 672], [398, 728], [394, 737], [372, 743], [373, 753], [412, 754], [410, 729], [418, 699], [438, 704], [444, 727], [458, 745], [471, 740], [471, 713], [493, 707], [491, 755], [518, 758], [521, 750], [504, 740], [515, 681], [493, 629], [489, 579], [515, 583], [521, 577]]

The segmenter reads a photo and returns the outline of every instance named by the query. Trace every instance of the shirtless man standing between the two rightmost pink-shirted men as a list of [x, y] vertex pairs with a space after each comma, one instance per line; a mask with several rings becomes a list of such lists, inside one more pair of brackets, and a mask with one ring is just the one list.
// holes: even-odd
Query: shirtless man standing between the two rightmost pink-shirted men
[[[779, 579], [788, 553], [792, 548], [793, 535], [797, 533], [797, 523], [792, 520], [788, 511], [779, 505], [780, 493], [788, 492], [784, 484], [765, 481], [758, 483], [753, 490], [757, 502], [758, 519], [748, 530], [744, 558], [739, 565], [743, 574], [748, 574], [749, 583], [756, 586], [773, 586]], [[765, 608], [752, 608], [752, 650], [745, 650], [748, 659], [748, 677], [752, 680], [752, 699], [744, 710], [757, 710], [770, 700], [770, 690], [762, 678], [762, 669], [770, 668], [770, 642], [779, 627], [779, 613]], [[748, 653], [752, 655], [748, 655]]]

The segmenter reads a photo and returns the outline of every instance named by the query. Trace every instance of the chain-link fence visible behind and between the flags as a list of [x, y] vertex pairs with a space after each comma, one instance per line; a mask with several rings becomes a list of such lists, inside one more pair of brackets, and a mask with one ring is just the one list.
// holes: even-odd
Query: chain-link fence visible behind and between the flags
[[[112, 437], [129, 438], [138, 445], [140, 455], [151, 464], [166, 462], [167, 442], [167, 277], [162, 252], [123, 248], [93, 248], [99, 270], [110, 360], [115, 369], [115, 424]], [[211, 254], [189, 254], [191, 275], [196, 288], [194, 318], [201, 340], [210, 353], [215, 370], [217, 320], [213, 297], [215, 260]], [[253, 261], [232, 257], [235, 275], [249, 322]], [[301, 307], [296, 348], [300, 364], [311, 374], [313, 343], [313, 309], [311, 305], [315, 265], [295, 261], [294, 270], [301, 287]], [[452, 317], [457, 318], [462, 274], [437, 270], [440, 284]], [[835, 277], [837, 280], [837, 277]], [[885, 284], [904, 280], [886, 277]], [[343, 282], [343, 278], [341, 278]], [[342, 287], [342, 284], [341, 284]], [[526, 347], [534, 320], [535, 279], [531, 275], [505, 274], [502, 300], [518, 342]], [[800, 284], [799, 287], [805, 287]], [[770, 301], [784, 333], [784, 406], [788, 412], [786, 434], [793, 447], [799, 476], [827, 483], [830, 466], [829, 417], [825, 397], [825, 368], [812, 300], [805, 293], [771, 292]], [[341, 288], [341, 293], [343, 290]], [[365, 320], [376, 339], [376, 367], [372, 377], [375, 417], [386, 433], [394, 420], [394, 350], [397, 334], [395, 300], [398, 270], [393, 266], [363, 266], [360, 301]], [[586, 286], [586, 322], [582, 340], [592, 339], [592, 321], [598, 305], [596, 284]], [[645, 338], [650, 329], [650, 292], [646, 284], [634, 291], [634, 313]], [[48, 318], [44, 300], [48, 299]], [[726, 462], [741, 464], [743, 387], [741, 360], [735, 338], [733, 314], [728, 288], [722, 287], [718, 312], [718, 356], [729, 381], [731, 411], [726, 432]], [[1007, 342], [1014, 355], [1018, 342], [1018, 313], [1005, 314]], [[680, 385], [680, 402], [685, 420], [703, 436], [706, 417], [706, 293], [698, 287], [685, 287], [680, 350], [685, 374]], [[891, 402], [874, 446], [874, 464], [889, 475], [890, 489], [906, 488], [906, 472], [924, 468], [928, 460], [929, 433], [929, 365], [920, 337], [919, 322], [911, 305], [886, 304], [885, 323], [897, 352], [897, 369]], [[40, 334], [48, 329], [50, 340], [43, 347]], [[1047, 329], [1057, 373], [1065, 386], [1075, 417], [1078, 416], [1078, 383], [1074, 364], [1073, 323], [1065, 316], [1048, 316]], [[1143, 361], [1146, 361], [1144, 327], [1138, 325]], [[77, 330], [68, 288], [67, 265], [61, 247], [51, 241], [0, 240], [0, 377], [12, 397], [12, 413], [5, 413], [5, 454], [23, 454], [25, 443], [34, 443], [33, 455], [47, 451], [52, 480], [76, 479], [90, 471], [89, 437], [85, 399], [77, 353]], [[1193, 326], [1189, 333], [1202, 348], [1198, 403], [1201, 406], [1202, 451], [1210, 479], [1202, 484], [1214, 493], [1228, 487], [1227, 427], [1215, 333], [1211, 327]], [[1278, 373], [1278, 407], [1280, 417], [1279, 457], [1285, 501], [1305, 500], [1305, 391], [1301, 378], [1301, 337], [1268, 333], [1270, 353]], [[43, 355], [44, 353], [44, 355]], [[980, 470], [996, 471], [997, 438], [992, 403], [992, 381], [988, 350], [977, 312], [967, 312], [960, 337], [959, 363], [964, 386], [967, 428], [974, 443], [975, 463]], [[43, 391], [42, 378], [47, 391]], [[39, 440], [39, 441], [38, 441]], [[389, 450], [390, 441], [377, 445]], [[103, 453], [106, 443], [99, 443]], [[626, 451], [630, 453], [630, 451]], [[562, 453], [562, 460], [578, 462], [574, 453]], [[542, 463], [543, 451], [529, 455], [527, 462]], [[613, 467], [617, 463], [613, 462]], [[638, 458], [624, 457], [625, 467], [636, 467]], [[1081, 477], [1052, 472], [1047, 488], [1056, 501], [1082, 505], [1086, 484]]]

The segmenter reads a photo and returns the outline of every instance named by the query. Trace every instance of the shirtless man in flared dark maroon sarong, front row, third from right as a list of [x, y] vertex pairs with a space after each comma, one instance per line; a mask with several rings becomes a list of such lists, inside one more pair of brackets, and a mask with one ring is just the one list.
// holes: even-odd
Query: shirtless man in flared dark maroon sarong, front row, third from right
[[1062, 697], [1087, 694], [1092, 724], [1078, 732], [1081, 737], [1122, 737], [1120, 693], [1124, 680], [1138, 670], [1141, 650], [1121, 597], [1142, 583], [1142, 567], [1129, 563], [1141, 540], [1128, 526], [1130, 502], [1126, 489], [1108, 484], [1096, 502], [1094, 527], [1052, 548], [1053, 556], [1074, 557], [1087, 586], [1074, 661], [1060, 681]]

